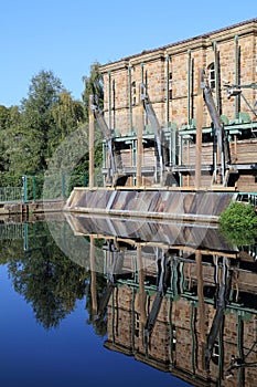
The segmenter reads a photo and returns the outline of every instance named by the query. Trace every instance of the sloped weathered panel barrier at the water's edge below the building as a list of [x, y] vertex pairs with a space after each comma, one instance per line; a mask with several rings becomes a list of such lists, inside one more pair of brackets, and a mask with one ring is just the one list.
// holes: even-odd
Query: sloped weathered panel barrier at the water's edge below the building
[[168, 189], [75, 188], [65, 210], [124, 218], [217, 222], [236, 199], [232, 191], [175, 191]]

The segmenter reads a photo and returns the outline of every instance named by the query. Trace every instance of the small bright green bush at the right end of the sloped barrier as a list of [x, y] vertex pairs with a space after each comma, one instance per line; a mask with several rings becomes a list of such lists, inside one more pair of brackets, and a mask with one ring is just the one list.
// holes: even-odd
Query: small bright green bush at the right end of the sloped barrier
[[221, 231], [238, 245], [255, 243], [257, 238], [257, 216], [248, 203], [232, 202], [219, 216]]

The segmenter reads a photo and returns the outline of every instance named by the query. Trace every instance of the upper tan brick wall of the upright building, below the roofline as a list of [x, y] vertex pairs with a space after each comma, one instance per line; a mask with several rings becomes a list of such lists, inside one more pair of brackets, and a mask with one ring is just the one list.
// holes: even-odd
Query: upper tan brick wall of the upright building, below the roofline
[[[129, 130], [131, 92], [132, 124], [137, 126], [140, 84], [143, 81], [148, 85], [151, 103], [162, 126], [167, 124], [167, 117], [178, 127], [189, 124], [189, 118], [195, 118], [199, 70], [207, 71], [212, 64], [215, 64], [218, 82], [213, 93], [215, 98], [219, 94], [219, 112], [229, 121], [235, 119], [235, 101], [234, 98], [227, 100], [223, 83], [224, 80], [242, 85], [256, 82], [256, 40], [257, 21], [254, 19], [103, 65], [107, 121], [110, 119], [111, 127], [119, 129], [121, 134]], [[170, 76], [172, 77], [169, 79]], [[169, 96], [168, 107], [167, 96], [171, 87], [172, 95]], [[254, 106], [256, 91], [246, 88], [244, 94]], [[243, 98], [240, 98], [239, 112], [247, 112], [254, 118]], [[210, 116], [205, 111], [204, 126], [210, 126]]]

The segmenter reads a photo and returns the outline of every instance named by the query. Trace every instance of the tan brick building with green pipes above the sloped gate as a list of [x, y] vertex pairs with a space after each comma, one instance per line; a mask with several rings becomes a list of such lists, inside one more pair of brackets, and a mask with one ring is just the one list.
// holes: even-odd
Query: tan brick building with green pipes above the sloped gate
[[[140, 125], [143, 125], [142, 182], [144, 186], [154, 182], [156, 137], [147, 112], [142, 112], [142, 84], [161, 127], [164, 169], [172, 176], [164, 185], [194, 185], [197, 94], [200, 71], [204, 70], [229, 153], [223, 186], [256, 191], [253, 167], [257, 163], [256, 41], [257, 19], [253, 19], [100, 67], [104, 115], [121, 155], [122, 174], [129, 176], [126, 185], [135, 185], [136, 180]], [[201, 121], [201, 185], [210, 187], [215, 169], [214, 135], [206, 105]], [[106, 160], [105, 167], [107, 175]]]

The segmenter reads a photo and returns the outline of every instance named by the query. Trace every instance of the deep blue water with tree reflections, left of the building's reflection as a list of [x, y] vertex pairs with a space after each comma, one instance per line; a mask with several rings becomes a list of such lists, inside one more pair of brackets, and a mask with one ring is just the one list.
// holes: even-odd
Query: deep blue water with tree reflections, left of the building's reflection
[[[90, 271], [75, 262], [79, 253], [66, 257], [46, 223], [1, 224], [0, 243], [2, 387], [189, 386], [105, 347], [108, 322], [93, 324]], [[97, 285], [99, 300], [100, 273]]]

